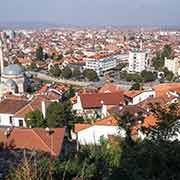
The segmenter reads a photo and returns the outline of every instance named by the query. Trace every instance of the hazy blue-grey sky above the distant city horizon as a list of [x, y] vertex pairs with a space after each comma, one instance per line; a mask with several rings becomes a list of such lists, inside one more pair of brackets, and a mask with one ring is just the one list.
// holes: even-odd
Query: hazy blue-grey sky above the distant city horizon
[[1, 0], [0, 22], [180, 25], [180, 0]]

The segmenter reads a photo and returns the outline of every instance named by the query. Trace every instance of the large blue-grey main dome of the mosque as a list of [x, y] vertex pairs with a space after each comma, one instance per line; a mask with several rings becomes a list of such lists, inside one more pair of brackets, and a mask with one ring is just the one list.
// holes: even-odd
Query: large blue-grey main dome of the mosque
[[4, 68], [3, 75], [5, 76], [19, 76], [22, 75], [23, 69], [17, 64], [10, 64]]

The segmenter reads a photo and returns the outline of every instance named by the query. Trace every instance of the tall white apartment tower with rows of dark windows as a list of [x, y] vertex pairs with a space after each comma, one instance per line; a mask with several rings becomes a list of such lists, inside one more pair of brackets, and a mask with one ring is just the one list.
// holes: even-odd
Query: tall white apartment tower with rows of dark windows
[[150, 66], [150, 58], [147, 51], [136, 49], [129, 52], [129, 72], [142, 72]]

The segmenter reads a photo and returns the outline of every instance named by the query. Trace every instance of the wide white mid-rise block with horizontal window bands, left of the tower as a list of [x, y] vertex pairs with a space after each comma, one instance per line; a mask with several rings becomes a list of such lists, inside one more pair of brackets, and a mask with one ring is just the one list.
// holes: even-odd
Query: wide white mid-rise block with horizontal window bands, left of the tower
[[87, 58], [85, 69], [93, 69], [99, 76], [104, 72], [115, 68], [116, 66], [117, 60], [115, 57], [105, 57], [100, 59]]

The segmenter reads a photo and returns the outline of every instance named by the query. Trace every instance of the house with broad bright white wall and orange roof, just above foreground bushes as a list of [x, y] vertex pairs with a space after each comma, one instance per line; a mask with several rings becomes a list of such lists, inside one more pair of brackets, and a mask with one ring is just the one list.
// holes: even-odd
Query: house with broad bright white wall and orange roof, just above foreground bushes
[[94, 124], [75, 124], [75, 133], [73, 139], [79, 144], [99, 144], [101, 137], [108, 138], [109, 135], [126, 136], [124, 129], [119, 129], [118, 121], [110, 116], [97, 120]]

